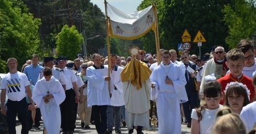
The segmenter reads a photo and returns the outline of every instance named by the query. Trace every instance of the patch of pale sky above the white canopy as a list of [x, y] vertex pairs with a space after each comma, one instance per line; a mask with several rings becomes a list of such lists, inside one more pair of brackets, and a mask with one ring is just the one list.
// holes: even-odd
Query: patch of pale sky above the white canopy
[[[126, 14], [130, 14], [136, 11], [136, 8], [141, 4], [143, 0], [107, 0], [107, 2], [123, 11]], [[93, 4], [98, 5], [102, 12], [105, 14], [104, 0], [91, 0]]]

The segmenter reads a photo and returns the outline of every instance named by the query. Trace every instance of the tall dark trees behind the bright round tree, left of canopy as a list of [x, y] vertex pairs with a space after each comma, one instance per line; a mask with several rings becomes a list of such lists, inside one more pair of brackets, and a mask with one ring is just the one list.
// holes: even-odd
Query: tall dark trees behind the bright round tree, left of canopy
[[39, 18], [38, 12], [40, 12], [44, 48], [56, 48], [55, 36], [61, 32], [65, 24], [75, 25], [79, 33], [83, 33], [85, 30], [86, 38], [99, 35], [97, 39], [87, 41], [89, 55], [104, 47], [106, 40], [105, 17], [100, 8], [92, 4], [90, 0], [44, 0], [40, 1], [40, 4], [39, 1], [24, 0], [24, 2], [35, 17]]

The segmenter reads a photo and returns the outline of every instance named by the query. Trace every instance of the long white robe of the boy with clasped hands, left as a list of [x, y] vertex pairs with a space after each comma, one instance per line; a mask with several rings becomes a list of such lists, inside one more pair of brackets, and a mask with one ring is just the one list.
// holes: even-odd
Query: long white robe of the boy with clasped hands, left
[[[43, 97], [53, 95], [48, 103], [43, 101]], [[43, 77], [34, 86], [32, 91], [32, 99], [40, 108], [43, 125], [46, 128], [48, 134], [60, 133], [61, 130], [61, 110], [60, 104], [65, 100], [65, 92], [59, 81], [51, 77], [50, 81], [45, 81]]]

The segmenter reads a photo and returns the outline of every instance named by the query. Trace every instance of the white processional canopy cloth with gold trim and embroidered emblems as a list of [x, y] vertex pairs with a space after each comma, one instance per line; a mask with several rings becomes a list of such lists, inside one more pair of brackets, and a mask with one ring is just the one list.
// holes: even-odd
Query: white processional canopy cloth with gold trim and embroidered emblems
[[142, 37], [150, 30], [155, 30], [153, 6], [143, 10], [125, 14], [107, 3], [109, 17], [109, 35], [122, 39]]

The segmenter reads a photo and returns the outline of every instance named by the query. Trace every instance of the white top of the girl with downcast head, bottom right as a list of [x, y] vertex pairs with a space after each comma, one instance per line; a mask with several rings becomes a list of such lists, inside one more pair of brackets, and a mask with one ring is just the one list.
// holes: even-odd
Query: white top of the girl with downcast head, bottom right
[[[201, 111], [202, 119], [200, 120], [200, 133], [211, 133], [211, 130], [208, 130], [208, 129], [212, 127], [216, 114], [218, 110], [222, 107], [223, 105], [219, 104], [218, 109], [214, 109], [214, 110], [203, 109]], [[195, 109], [192, 110], [191, 118], [198, 120], [198, 116]]]

